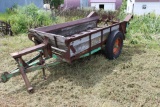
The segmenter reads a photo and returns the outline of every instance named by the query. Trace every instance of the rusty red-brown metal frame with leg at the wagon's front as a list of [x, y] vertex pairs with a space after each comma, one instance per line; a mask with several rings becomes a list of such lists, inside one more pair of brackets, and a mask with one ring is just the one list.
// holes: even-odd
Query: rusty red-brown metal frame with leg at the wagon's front
[[[52, 55], [50, 54], [51, 53], [51, 46], [48, 44], [48, 38], [45, 38], [44, 42], [39, 45], [24, 49], [19, 52], [11, 53], [11, 56], [18, 63], [19, 71], [22, 75], [22, 78], [23, 78], [25, 84], [26, 84], [28, 92], [33, 92], [33, 87], [31, 86], [31, 84], [27, 78], [27, 75], [25, 73], [25, 68], [29, 67], [29, 65], [22, 59], [22, 56], [29, 54], [29, 53], [32, 53], [32, 52], [35, 52], [35, 51], [38, 51], [38, 50], [43, 50], [43, 53], [40, 52], [40, 56], [39, 56], [39, 65], [43, 65], [44, 64], [43, 55], [44, 55], [44, 57], [52, 57]], [[43, 70], [43, 76], [45, 78], [44, 68], [42, 68], [42, 70]]]

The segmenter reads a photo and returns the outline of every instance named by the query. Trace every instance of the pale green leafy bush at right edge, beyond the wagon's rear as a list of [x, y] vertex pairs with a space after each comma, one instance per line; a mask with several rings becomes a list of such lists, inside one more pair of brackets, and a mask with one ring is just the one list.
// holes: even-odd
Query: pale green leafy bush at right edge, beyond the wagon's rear
[[160, 33], [159, 22], [160, 16], [155, 15], [155, 13], [134, 16], [134, 19], [130, 21], [130, 25], [127, 28], [128, 35], [142, 33], [145, 35], [146, 39], [151, 39], [148, 35]]

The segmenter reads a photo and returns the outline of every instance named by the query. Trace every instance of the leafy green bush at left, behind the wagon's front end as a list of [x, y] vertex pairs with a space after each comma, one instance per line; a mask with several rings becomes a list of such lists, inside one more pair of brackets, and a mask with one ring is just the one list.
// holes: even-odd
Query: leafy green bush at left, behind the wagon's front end
[[34, 4], [14, 9], [8, 18], [15, 34], [26, 33], [28, 29], [53, 23], [50, 13], [39, 10]]

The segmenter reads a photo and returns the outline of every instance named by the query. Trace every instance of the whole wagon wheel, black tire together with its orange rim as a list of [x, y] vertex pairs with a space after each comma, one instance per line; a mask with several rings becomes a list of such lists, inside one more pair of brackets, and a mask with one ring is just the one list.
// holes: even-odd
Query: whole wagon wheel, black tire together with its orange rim
[[112, 31], [105, 45], [105, 56], [110, 60], [118, 58], [121, 54], [122, 47], [123, 33], [120, 31]]

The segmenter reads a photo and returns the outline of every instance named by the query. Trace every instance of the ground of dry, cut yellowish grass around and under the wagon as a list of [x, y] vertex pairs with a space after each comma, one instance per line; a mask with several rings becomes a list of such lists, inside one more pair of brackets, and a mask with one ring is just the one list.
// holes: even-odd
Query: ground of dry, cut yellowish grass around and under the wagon
[[[0, 38], [0, 73], [16, 67], [9, 53], [31, 45], [25, 36]], [[27, 93], [21, 76], [0, 83], [0, 107], [160, 107], [157, 49], [125, 42], [116, 60], [99, 52], [46, 72], [47, 80], [41, 70], [27, 74], [33, 94]]]

